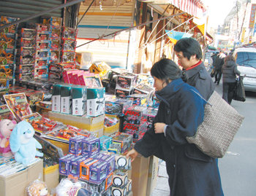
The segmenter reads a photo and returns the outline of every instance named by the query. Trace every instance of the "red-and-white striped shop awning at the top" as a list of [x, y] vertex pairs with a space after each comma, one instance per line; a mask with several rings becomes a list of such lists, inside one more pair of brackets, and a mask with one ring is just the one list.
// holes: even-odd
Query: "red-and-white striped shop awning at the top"
[[148, 4], [172, 4], [183, 12], [195, 17], [202, 17], [206, 7], [202, 0], [139, 0]]

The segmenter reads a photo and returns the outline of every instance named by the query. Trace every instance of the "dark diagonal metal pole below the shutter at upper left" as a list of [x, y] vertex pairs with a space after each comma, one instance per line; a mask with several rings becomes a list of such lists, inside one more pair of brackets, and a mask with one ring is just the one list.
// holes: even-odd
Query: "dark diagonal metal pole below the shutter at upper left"
[[0, 27], [0, 30], [1, 30], [1, 29], [4, 29], [4, 28], [7, 28], [8, 26], [12, 26], [12, 25], [15, 25], [15, 24], [18, 24], [18, 23], [23, 23], [23, 22], [26, 22], [27, 20], [31, 20], [31, 19], [33, 19], [33, 18], [35, 18], [35, 17], [39, 17], [39, 16], [41, 16], [41, 15], [45, 15], [45, 14], [47, 14], [47, 13], [53, 12], [53, 11], [56, 10], [56, 9], [62, 9], [62, 8], [64, 8], [64, 7], [68, 7], [68, 6], [71, 6], [71, 5], [73, 5], [73, 4], [78, 4], [78, 3], [80, 3], [81, 1], [84, 1], [84, 0], [73, 0], [73, 1], [68, 2], [67, 4], [61, 4], [61, 5], [57, 6], [57, 7], [53, 7], [52, 9], [48, 9], [48, 10], [45, 10], [45, 11], [43, 11], [43, 12], [39, 12], [39, 13], [36, 14], [36, 15], [31, 15], [31, 16], [26, 17], [26, 18], [23, 18], [23, 19], [21, 19], [21, 20], [17, 20], [17, 21], [15, 21], [15, 22], [13, 22], [13, 23], [6, 24], [5, 26], [1, 26], [1, 27]]

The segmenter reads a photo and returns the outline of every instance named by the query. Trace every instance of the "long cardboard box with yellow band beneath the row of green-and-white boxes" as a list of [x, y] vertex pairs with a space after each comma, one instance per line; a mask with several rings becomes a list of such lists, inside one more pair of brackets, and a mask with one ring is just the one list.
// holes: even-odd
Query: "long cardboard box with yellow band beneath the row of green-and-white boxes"
[[70, 114], [61, 114], [49, 111], [48, 117], [55, 121], [63, 122], [65, 125], [72, 125], [76, 128], [97, 133], [98, 137], [103, 136], [105, 114], [98, 117], [77, 117]]

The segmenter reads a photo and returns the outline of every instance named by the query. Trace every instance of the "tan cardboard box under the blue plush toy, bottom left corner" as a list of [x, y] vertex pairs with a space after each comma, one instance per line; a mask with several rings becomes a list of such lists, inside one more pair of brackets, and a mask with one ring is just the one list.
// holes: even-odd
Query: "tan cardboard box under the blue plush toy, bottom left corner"
[[26, 196], [26, 187], [42, 176], [42, 160], [10, 176], [0, 176], [1, 196]]

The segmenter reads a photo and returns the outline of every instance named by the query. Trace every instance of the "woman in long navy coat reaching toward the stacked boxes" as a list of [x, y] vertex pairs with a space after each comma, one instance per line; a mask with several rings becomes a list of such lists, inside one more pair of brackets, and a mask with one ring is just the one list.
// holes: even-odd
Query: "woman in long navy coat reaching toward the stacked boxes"
[[181, 79], [182, 72], [172, 60], [159, 60], [151, 68], [151, 75], [159, 110], [153, 128], [127, 157], [134, 160], [138, 153], [144, 157], [153, 154], [165, 160], [171, 196], [223, 195], [217, 160], [186, 140], [203, 122], [206, 102], [195, 87]]

